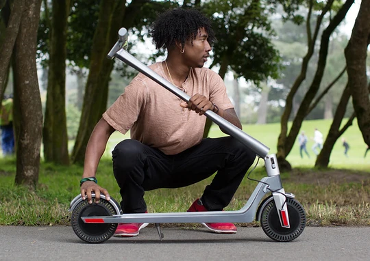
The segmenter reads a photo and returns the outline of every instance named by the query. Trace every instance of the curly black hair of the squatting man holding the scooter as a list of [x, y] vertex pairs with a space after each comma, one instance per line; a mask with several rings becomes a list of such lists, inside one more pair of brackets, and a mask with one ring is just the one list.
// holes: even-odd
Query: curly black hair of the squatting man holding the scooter
[[168, 10], [158, 16], [151, 29], [153, 43], [156, 49], [169, 48], [178, 41], [184, 46], [186, 40], [197, 37], [200, 28], [208, 33], [208, 42], [216, 40], [210, 20], [195, 9], [176, 8]]

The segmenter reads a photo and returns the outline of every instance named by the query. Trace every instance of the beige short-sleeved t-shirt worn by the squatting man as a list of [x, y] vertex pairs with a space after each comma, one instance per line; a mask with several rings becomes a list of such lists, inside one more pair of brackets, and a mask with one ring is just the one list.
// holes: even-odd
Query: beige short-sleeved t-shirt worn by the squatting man
[[[162, 62], [149, 68], [167, 79]], [[208, 68], [190, 69], [182, 88], [190, 97], [203, 94], [219, 108], [234, 107], [223, 80]], [[205, 115], [180, 107], [180, 102], [175, 94], [139, 73], [103, 118], [120, 133], [131, 130], [132, 139], [158, 148], [164, 154], [177, 154], [201, 142], [206, 124]]]

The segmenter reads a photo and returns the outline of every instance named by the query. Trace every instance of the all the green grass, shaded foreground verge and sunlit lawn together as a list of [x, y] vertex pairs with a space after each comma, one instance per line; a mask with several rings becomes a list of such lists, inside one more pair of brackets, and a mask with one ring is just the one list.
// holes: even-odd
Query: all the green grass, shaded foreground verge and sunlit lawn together
[[[325, 135], [330, 127], [329, 121], [318, 120], [304, 122], [302, 129], [308, 137], [315, 127]], [[262, 141], [275, 153], [277, 135], [280, 133], [279, 124], [262, 126], [245, 125], [245, 132]], [[220, 137], [223, 133], [217, 126], [212, 126], [210, 137]], [[367, 171], [369, 163], [363, 159], [365, 143], [362, 141], [360, 130], [356, 123], [345, 133], [351, 150], [350, 158], [343, 155], [344, 148], [336, 143], [330, 167], [348, 169], [348, 172]], [[97, 179], [101, 187], [108, 189], [110, 195], [120, 201], [119, 187], [112, 174], [110, 151], [116, 143], [129, 135], [114, 133], [108, 142], [107, 150], [99, 164]], [[308, 143], [308, 149], [312, 141]], [[314, 156], [310, 160], [301, 159], [297, 144], [288, 155], [288, 161], [293, 167], [301, 168], [304, 174], [309, 174], [314, 166]], [[370, 154], [368, 155], [370, 157]], [[69, 204], [79, 194], [79, 180], [82, 167], [55, 166], [41, 163], [39, 184], [35, 192], [29, 192], [23, 187], [14, 186], [15, 159], [0, 159], [0, 225], [69, 225]], [[370, 225], [370, 186], [369, 182], [331, 182], [318, 184], [314, 182], [293, 182], [293, 173], [282, 173], [284, 189], [294, 193], [307, 212], [308, 224], [312, 225]], [[366, 175], [366, 174], [365, 174]], [[265, 176], [264, 169], [258, 167], [251, 177], [260, 179]], [[158, 189], [147, 191], [145, 200], [149, 212], [182, 212], [199, 197], [209, 184], [211, 178], [189, 187], [180, 189]], [[236, 195], [226, 210], [238, 210], [244, 206], [256, 187], [256, 182], [245, 178]], [[246, 224], [240, 224], [246, 225]], [[256, 225], [256, 224], [253, 224]]]

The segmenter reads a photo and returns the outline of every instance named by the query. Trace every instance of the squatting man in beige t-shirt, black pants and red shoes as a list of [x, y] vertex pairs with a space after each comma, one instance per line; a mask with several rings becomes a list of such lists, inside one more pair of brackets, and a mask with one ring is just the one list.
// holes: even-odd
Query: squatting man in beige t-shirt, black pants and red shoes
[[[94, 181], [110, 135], [131, 130], [131, 138], [112, 151], [113, 171], [124, 213], [144, 213], [145, 191], [194, 184], [217, 171], [212, 183], [188, 211], [223, 210], [230, 203], [256, 154], [233, 137], [202, 139], [211, 110], [242, 128], [218, 74], [203, 68], [214, 32], [196, 10], [177, 9], [160, 15], [153, 42], [166, 48], [165, 61], [149, 66], [191, 98], [188, 103], [143, 74], [138, 74], [97, 123], [86, 148], [81, 194], [92, 203], [109, 194]], [[87, 180], [87, 181], [86, 181]], [[147, 223], [119, 224], [115, 236], [137, 236]], [[204, 223], [217, 233], [236, 233], [232, 223]]]

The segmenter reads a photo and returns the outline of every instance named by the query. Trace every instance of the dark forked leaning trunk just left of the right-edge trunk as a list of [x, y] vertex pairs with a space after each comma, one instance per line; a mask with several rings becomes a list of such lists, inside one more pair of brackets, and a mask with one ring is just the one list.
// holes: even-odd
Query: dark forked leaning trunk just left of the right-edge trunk
[[336, 140], [341, 137], [341, 135], [345, 132], [345, 130], [347, 130], [349, 126], [352, 125], [354, 115], [349, 118], [347, 124], [345, 124], [342, 130], [340, 130], [350, 96], [351, 91], [349, 90], [349, 85], [347, 84], [345, 90], [343, 90], [343, 94], [341, 96], [341, 100], [338, 103], [338, 107], [336, 107], [336, 112], [333, 118], [332, 125], [330, 126], [329, 133], [326, 136], [325, 142], [323, 143], [323, 149], [320, 151], [319, 155], [317, 156], [316, 162], [314, 163], [316, 167], [328, 167], [330, 154], [332, 153]]

